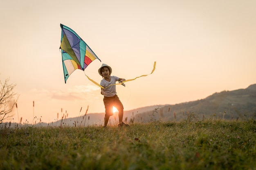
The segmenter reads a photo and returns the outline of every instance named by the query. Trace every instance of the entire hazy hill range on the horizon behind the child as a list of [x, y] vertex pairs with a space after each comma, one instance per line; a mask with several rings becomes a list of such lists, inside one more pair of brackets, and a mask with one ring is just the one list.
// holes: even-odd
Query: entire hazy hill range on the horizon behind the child
[[[89, 113], [76, 118], [66, 118], [56, 122], [40, 123], [43, 126], [86, 126], [103, 125], [105, 113]], [[256, 118], [256, 84], [246, 89], [214, 93], [207, 98], [183, 102], [176, 105], [154, 105], [124, 111], [126, 122], [149, 122], [150, 120], [184, 120], [219, 118], [245, 120]], [[110, 117], [109, 124], [118, 124], [118, 115]], [[2, 125], [4, 126], [4, 125]]]

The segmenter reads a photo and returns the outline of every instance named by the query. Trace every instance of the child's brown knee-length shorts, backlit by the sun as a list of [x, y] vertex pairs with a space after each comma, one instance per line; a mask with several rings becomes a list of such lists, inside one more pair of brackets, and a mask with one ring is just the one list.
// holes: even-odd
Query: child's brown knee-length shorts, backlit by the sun
[[105, 97], [103, 98], [103, 102], [105, 105], [105, 116], [112, 116], [113, 113], [113, 106], [117, 108], [119, 113], [124, 113], [124, 106], [119, 100], [118, 96], [115, 95], [113, 97]]

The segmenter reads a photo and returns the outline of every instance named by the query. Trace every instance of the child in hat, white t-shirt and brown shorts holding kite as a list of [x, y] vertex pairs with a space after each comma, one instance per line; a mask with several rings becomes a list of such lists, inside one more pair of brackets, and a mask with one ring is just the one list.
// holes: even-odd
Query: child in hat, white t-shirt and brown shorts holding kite
[[118, 126], [129, 126], [123, 122], [124, 106], [117, 96], [116, 85], [112, 85], [117, 81], [123, 82], [125, 79], [117, 76], [110, 76], [112, 73], [112, 68], [106, 64], [102, 64], [98, 72], [103, 78], [100, 85], [106, 87], [105, 89], [101, 88], [101, 94], [104, 95], [103, 102], [105, 105], [104, 127], [107, 127], [109, 117], [113, 115], [113, 106], [116, 107], [119, 112]]

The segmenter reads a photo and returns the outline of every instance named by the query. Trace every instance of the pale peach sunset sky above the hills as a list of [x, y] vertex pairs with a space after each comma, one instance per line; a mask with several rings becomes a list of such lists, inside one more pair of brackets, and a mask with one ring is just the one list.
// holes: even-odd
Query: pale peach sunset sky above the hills
[[[103, 113], [100, 87], [85, 76], [100, 83], [102, 63], [132, 79], [156, 61], [153, 74], [117, 85], [125, 111], [245, 89], [256, 83], [255, 9], [255, 0], [0, 0], [0, 81], [19, 95], [7, 121]], [[101, 59], [67, 83], [60, 24]]]

